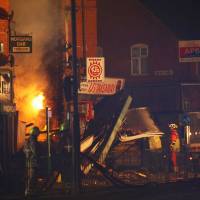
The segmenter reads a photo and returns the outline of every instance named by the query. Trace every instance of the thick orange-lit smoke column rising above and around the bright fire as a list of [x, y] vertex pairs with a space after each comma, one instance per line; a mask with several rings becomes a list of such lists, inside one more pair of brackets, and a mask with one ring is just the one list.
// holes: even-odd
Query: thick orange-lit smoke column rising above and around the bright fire
[[[30, 99], [43, 92], [47, 105], [56, 106], [63, 42], [62, 0], [11, 0], [15, 34], [31, 35], [32, 53], [15, 54], [14, 95], [20, 119], [31, 118]], [[13, 30], [12, 30], [13, 32]], [[61, 89], [60, 89], [61, 90]], [[54, 98], [52, 98], [54, 97]]]

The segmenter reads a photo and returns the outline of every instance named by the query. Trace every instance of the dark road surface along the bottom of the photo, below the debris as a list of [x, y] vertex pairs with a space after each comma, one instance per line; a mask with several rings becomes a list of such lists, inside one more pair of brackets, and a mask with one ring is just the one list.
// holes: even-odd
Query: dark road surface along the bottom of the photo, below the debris
[[178, 181], [163, 184], [146, 184], [134, 187], [108, 187], [94, 189], [77, 194], [64, 193], [59, 190], [51, 190], [46, 193], [38, 193], [24, 197], [23, 194], [2, 194], [1, 200], [199, 200], [200, 179]]

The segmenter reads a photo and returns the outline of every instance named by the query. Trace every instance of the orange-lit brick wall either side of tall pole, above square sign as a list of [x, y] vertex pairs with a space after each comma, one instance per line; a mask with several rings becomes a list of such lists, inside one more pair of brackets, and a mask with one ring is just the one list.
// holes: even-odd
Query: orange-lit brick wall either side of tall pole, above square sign
[[[70, 1], [66, 0], [66, 5], [70, 6]], [[78, 57], [96, 56], [97, 47], [97, 29], [96, 29], [96, 0], [77, 0], [77, 54]], [[70, 14], [67, 16], [67, 36], [71, 42], [71, 20]]]

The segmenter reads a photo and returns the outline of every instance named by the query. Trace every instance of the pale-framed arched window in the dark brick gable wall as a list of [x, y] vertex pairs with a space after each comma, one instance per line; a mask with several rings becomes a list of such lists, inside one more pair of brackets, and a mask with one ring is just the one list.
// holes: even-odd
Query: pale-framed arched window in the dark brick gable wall
[[148, 46], [136, 44], [131, 46], [131, 75], [148, 74]]

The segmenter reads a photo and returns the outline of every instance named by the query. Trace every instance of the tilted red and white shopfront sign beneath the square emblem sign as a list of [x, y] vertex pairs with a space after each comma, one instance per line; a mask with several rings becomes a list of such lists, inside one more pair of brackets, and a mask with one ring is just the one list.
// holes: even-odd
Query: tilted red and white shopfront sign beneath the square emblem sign
[[81, 82], [79, 94], [113, 95], [123, 89], [125, 80], [120, 78], [105, 78], [103, 82]]

